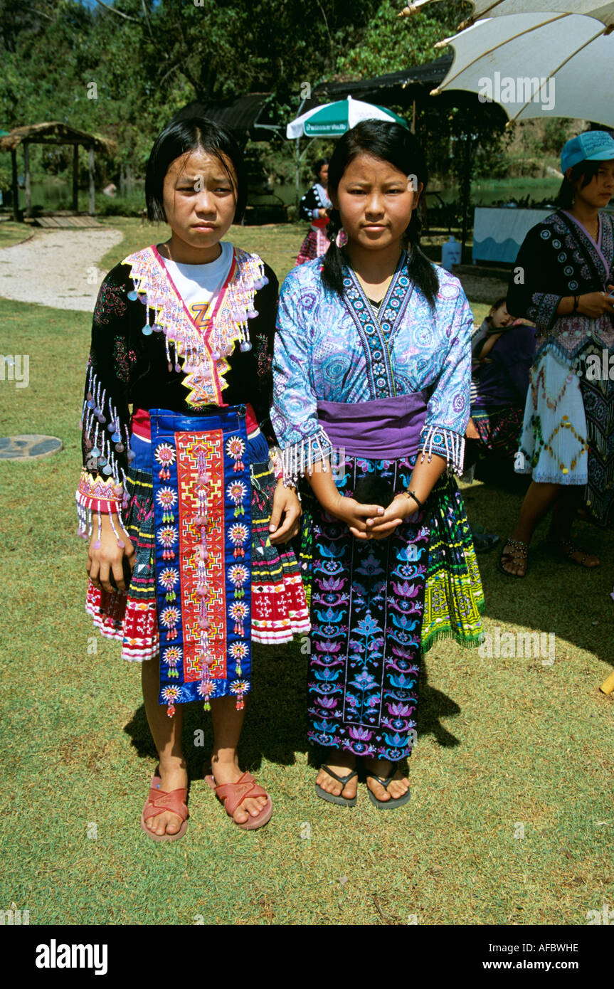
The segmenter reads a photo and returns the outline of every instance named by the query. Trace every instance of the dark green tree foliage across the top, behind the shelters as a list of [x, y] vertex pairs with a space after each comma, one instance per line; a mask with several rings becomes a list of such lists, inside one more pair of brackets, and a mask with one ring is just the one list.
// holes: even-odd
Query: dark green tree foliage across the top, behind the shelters
[[[0, 0], [0, 129], [60, 120], [115, 139], [142, 168], [153, 137], [191, 100], [270, 93], [285, 124], [304, 83], [431, 60], [466, 4], [398, 19], [401, 0]], [[278, 150], [283, 142], [277, 142]], [[275, 151], [275, 142], [273, 150]], [[277, 152], [276, 152], [277, 153]], [[47, 170], [63, 166], [45, 151]]]

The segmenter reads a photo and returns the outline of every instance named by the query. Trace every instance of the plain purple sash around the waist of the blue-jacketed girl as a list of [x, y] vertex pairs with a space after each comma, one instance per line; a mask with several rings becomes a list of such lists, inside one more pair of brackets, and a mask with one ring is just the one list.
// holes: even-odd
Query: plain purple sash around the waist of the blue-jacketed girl
[[372, 402], [318, 402], [317, 417], [333, 447], [350, 457], [397, 460], [418, 451], [426, 392]]

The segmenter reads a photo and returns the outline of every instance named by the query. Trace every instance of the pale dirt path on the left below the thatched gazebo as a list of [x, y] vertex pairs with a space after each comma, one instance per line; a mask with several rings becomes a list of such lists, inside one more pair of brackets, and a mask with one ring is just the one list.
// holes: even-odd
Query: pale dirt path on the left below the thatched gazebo
[[30, 240], [0, 249], [0, 296], [91, 313], [106, 274], [98, 262], [122, 237], [109, 227], [37, 230]]

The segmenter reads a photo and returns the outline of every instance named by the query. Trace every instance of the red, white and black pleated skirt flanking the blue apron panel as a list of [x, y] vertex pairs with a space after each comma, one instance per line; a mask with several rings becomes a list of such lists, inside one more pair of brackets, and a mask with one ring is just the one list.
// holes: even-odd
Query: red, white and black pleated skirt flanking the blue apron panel
[[[248, 439], [251, 478], [251, 641], [291, 642], [308, 632], [308, 611], [299, 565], [289, 543], [274, 547], [268, 526], [276, 481], [263, 460], [263, 437]], [[264, 447], [262, 444], [264, 443]], [[156, 658], [160, 640], [156, 618], [153, 484], [150, 471], [132, 468], [124, 513], [135, 551], [128, 592], [108, 593], [88, 584], [86, 610], [103, 635], [122, 642], [122, 658]]]

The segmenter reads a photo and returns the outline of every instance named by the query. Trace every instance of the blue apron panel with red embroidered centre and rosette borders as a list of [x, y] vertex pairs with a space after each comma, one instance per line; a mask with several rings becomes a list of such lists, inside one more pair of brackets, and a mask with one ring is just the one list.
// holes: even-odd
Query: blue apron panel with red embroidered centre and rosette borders
[[152, 409], [160, 703], [234, 694], [251, 671], [251, 489], [243, 406]]

